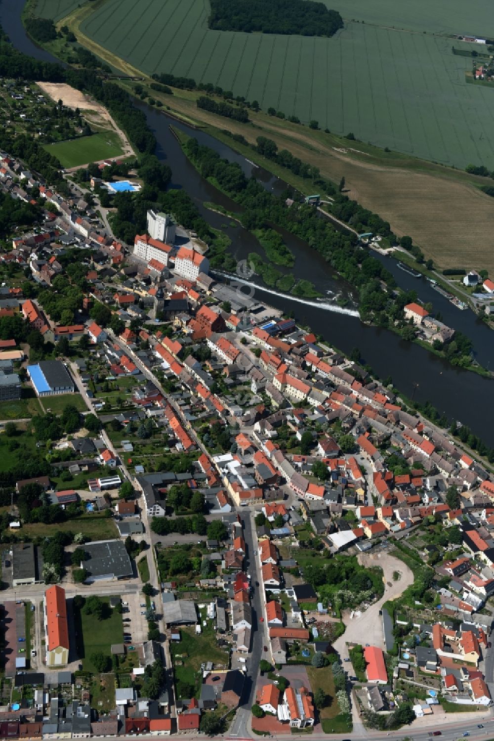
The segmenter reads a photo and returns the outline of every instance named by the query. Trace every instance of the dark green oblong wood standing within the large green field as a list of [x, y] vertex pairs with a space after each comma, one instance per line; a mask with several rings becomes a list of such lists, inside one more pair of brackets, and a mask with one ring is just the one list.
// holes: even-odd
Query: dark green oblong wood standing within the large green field
[[337, 10], [312, 0], [211, 0], [209, 27], [216, 31], [333, 36], [343, 28]]

